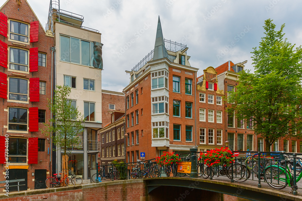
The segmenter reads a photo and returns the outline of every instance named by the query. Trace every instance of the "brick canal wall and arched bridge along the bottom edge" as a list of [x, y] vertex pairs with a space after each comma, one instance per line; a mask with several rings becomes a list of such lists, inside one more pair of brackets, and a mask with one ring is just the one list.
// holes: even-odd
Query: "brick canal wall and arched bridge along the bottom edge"
[[0, 195], [4, 201], [11, 200], [300, 200], [293, 196], [267, 188], [227, 181], [187, 177], [156, 177], [135, 180], [108, 181], [98, 184], [61, 187], [54, 189], [11, 192], [9, 197]]

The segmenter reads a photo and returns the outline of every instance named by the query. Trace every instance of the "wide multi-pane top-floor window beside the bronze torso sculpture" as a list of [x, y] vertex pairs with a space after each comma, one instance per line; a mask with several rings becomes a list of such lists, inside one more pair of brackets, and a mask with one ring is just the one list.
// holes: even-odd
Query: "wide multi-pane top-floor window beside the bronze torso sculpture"
[[93, 47], [93, 42], [60, 36], [60, 52], [62, 61], [92, 66], [94, 56]]

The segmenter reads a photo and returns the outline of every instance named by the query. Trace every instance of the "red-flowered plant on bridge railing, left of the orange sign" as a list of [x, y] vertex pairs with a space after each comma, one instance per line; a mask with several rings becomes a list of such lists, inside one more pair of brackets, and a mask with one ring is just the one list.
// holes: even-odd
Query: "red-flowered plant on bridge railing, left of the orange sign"
[[174, 154], [174, 152], [162, 152], [160, 157], [156, 157], [155, 161], [158, 165], [160, 165], [167, 177], [170, 176], [170, 173], [177, 173], [177, 164], [182, 160], [179, 158], [178, 154]]

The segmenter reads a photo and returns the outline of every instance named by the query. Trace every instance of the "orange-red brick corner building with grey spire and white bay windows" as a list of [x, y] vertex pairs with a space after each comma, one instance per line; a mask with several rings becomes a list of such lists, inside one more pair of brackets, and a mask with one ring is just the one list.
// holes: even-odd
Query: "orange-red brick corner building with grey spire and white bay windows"
[[[126, 162], [140, 152], [153, 159], [163, 151], [189, 152], [197, 145], [196, 72], [188, 48], [164, 40], [158, 20], [155, 47], [130, 73], [126, 96]], [[151, 114], [151, 115], [150, 115]]]

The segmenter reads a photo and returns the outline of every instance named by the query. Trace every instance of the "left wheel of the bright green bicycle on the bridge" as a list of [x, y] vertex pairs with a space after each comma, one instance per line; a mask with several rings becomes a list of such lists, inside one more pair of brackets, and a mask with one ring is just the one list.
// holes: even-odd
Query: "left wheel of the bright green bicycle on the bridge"
[[[286, 175], [287, 174], [287, 175]], [[288, 171], [278, 167], [268, 167], [264, 173], [264, 179], [270, 187], [284, 189], [287, 186]]]

